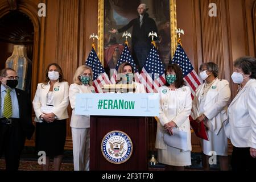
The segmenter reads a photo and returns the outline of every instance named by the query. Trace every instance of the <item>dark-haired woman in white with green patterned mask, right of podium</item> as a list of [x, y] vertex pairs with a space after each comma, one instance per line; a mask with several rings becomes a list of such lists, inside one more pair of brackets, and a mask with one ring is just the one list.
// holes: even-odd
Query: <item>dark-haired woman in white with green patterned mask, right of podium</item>
[[[191, 131], [189, 114], [191, 113], [191, 90], [184, 85], [181, 69], [177, 64], [170, 64], [166, 69], [165, 86], [159, 88], [160, 114], [156, 132], [155, 148], [158, 148], [158, 160], [166, 164], [166, 170], [184, 170], [191, 165]], [[187, 133], [187, 140], [181, 140], [186, 150], [168, 146], [164, 142], [166, 135], [174, 130]]]

